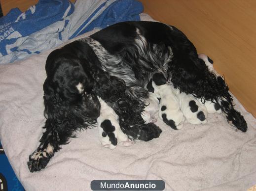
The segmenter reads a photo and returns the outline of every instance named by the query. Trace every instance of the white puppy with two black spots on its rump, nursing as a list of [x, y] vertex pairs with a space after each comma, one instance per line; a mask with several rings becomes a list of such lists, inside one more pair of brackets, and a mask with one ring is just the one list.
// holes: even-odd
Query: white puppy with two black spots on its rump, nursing
[[207, 110], [206, 107], [200, 104], [193, 95], [180, 92], [175, 89], [176, 97], [179, 100], [180, 108], [189, 123], [194, 125], [207, 123]]

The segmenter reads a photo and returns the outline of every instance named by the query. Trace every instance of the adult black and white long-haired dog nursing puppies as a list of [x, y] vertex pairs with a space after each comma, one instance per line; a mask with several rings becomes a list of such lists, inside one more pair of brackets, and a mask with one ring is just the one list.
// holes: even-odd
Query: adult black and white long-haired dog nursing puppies
[[45, 131], [29, 157], [31, 172], [44, 168], [76, 130], [97, 122], [97, 96], [116, 112], [130, 138], [158, 137], [160, 128], [145, 124], [141, 114], [148, 97], [144, 87], [159, 71], [181, 92], [218, 103], [233, 126], [247, 131], [226, 83], [209, 72], [193, 44], [173, 26], [143, 21], [112, 25], [53, 51], [45, 69]]

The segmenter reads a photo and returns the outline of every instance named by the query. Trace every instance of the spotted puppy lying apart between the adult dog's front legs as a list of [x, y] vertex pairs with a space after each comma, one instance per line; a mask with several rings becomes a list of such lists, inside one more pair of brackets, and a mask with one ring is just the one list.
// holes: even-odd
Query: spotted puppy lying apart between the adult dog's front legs
[[127, 135], [125, 135], [119, 126], [118, 115], [114, 110], [98, 97], [101, 109], [100, 116], [97, 118], [99, 139], [102, 145], [106, 148], [114, 149], [117, 144], [124, 146], [131, 146], [135, 142], [131, 141]]

